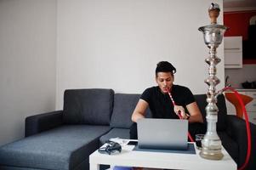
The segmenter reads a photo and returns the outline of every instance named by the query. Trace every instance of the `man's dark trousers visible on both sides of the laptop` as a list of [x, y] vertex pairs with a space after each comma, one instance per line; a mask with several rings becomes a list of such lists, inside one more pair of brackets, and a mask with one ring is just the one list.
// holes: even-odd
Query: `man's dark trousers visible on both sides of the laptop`
[[[195, 140], [196, 134], [206, 133], [206, 125], [201, 122], [189, 123], [189, 131], [191, 133], [191, 137]], [[135, 122], [130, 127], [130, 139], [138, 139], [137, 123]]]

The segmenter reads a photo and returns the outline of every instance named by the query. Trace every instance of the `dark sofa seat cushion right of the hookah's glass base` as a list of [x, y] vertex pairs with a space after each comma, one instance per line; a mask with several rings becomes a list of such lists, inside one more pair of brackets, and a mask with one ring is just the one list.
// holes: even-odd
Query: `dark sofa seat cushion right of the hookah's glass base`
[[225, 150], [229, 152], [230, 156], [237, 163], [239, 157], [239, 148], [236, 141], [231, 139], [230, 136], [225, 132], [218, 132], [218, 135]]

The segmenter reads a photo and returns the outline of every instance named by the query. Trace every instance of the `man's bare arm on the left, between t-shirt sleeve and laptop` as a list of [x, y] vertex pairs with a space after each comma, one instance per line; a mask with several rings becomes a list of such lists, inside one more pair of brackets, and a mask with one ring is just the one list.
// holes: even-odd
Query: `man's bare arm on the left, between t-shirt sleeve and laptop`
[[145, 118], [145, 111], [148, 105], [149, 104], [144, 99], [139, 99], [132, 115], [133, 122], [137, 122], [139, 119]]

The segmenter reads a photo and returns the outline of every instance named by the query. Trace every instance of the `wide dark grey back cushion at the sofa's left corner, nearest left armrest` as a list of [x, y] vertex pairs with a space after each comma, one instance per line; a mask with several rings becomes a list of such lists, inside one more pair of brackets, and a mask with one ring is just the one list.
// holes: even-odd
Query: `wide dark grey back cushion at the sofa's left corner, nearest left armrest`
[[109, 125], [113, 98], [112, 89], [65, 90], [63, 122]]

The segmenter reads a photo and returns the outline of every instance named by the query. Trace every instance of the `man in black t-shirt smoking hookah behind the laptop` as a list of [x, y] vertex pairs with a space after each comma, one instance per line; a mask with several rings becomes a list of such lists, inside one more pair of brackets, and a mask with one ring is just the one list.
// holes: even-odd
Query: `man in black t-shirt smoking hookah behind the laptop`
[[[202, 123], [202, 114], [199, 110], [194, 95], [189, 88], [174, 85], [174, 65], [168, 61], [161, 61], [156, 66], [156, 83], [158, 86], [145, 89], [136, 105], [132, 121], [137, 122], [145, 118], [145, 111], [149, 107], [153, 118], [187, 119], [189, 131], [193, 139], [196, 133], [205, 133], [206, 127]], [[173, 105], [168, 92], [176, 105]], [[137, 139], [137, 124], [134, 123], [130, 130], [130, 138]]]

